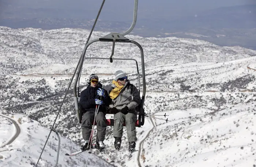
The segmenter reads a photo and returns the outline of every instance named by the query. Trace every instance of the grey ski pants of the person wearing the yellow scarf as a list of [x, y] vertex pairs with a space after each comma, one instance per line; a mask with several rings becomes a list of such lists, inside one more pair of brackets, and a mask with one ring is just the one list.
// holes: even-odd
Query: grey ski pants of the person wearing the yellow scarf
[[128, 142], [137, 141], [135, 122], [137, 121], [137, 115], [128, 113], [124, 115], [119, 112], [114, 114], [114, 137], [123, 136], [123, 124], [125, 122]]

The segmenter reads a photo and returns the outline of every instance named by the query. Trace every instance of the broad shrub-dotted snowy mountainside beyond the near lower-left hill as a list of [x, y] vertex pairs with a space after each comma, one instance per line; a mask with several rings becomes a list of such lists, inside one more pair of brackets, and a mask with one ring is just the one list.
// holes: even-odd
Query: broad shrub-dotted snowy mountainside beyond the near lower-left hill
[[[26, 115], [49, 129], [89, 31], [0, 27], [0, 34], [1, 110]], [[93, 34], [91, 39], [108, 33]], [[137, 128], [136, 147], [140, 151], [131, 159], [123, 159], [128, 147], [125, 130], [121, 153], [117, 154], [112, 152], [113, 130], [108, 127], [106, 152], [115, 160], [114, 165], [253, 166], [256, 51], [239, 46], [221, 47], [195, 39], [133, 35], [128, 38], [139, 42], [144, 49], [145, 112], [166, 113], [171, 122], [146, 118], [144, 126]], [[94, 43], [86, 55], [109, 57], [111, 46], [111, 43]], [[136, 58], [140, 62], [139, 49], [135, 46], [118, 43], [115, 49], [114, 57]], [[80, 88], [83, 90], [87, 86], [88, 77], [94, 72], [98, 73], [103, 86], [109, 86], [117, 69], [127, 72], [131, 83], [139, 86], [132, 62], [114, 61], [111, 64], [91, 60], [84, 65]], [[75, 115], [72, 90], [56, 126], [63, 131], [63, 137], [80, 143], [81, 129]], [[38, 140], [44, 140], [44, 136]], [[74, 147], [79, 148], [79, 145]], [[83, 156], [87, 157], [86, 153]]]

